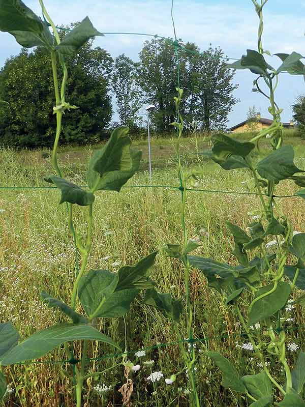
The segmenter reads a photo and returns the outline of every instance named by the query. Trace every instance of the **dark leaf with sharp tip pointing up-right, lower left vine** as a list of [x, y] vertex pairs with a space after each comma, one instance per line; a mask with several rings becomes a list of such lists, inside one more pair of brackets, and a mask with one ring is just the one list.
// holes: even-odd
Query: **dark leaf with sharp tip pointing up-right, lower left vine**
[[126, 288], [153, 288], [155, 283], [148, 278], [151, 268], [155, 264], [157, 251], [142, 258], [135, 266], [124, 266], [118, 270], [118, 284], [116, 290]]

